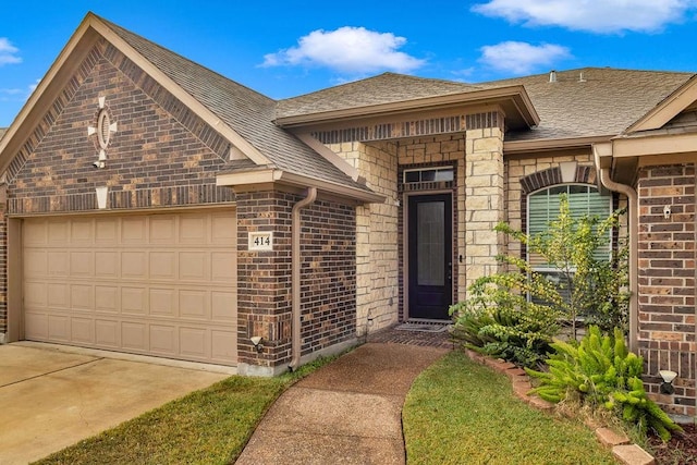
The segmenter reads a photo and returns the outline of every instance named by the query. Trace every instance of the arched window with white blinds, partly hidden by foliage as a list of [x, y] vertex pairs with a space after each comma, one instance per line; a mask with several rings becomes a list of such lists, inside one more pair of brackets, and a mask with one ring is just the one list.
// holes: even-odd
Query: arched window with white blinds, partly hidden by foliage
[[[530, 235], [547, 231], [550, 221], [559, 216], [561, 194], [566, 194], [568, 208], [573, 218], [584, 216], [606, 219], [612, 212], [612, 198], [602, 196], [595, 186], [585, 184], [563, 184], [547, 187], [530, 194], [527, 198], [527, 233]], [[604, 247], [600, 247], [596, 253], [597, 259], [611, 257], [611, 232], [608, 231], [608, 241]], [[550, 267], [540, 255], [528, 250], [527, 260], [533, 269], [547, 277], [548, 280], [559, 283], [562, 274]], [[567, 291], [568, 292], [568, 291]]]

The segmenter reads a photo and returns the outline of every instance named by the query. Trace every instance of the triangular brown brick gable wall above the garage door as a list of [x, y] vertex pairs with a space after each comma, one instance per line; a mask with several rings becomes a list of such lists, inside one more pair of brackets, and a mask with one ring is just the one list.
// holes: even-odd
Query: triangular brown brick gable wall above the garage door
[[[230, 189], [216, 187], [230, 146], [222, 136], [154, 81], [135, 82], [142, 72], [106, 40], [80, 70], [70, 98], [63, 91], [49, 107], [60, 112], [46, 112], [41, 121], [50, 124], [37, 127], [29, 137], [35, 143], [10, 163], [11, 213], [94, 208], [95, 188], [105, 185], [115, 208], [233, 199]], [[94, 167], [100, 146], [88, 132], [97, 127], [100, 107], [117, 123], [105, 169]]]

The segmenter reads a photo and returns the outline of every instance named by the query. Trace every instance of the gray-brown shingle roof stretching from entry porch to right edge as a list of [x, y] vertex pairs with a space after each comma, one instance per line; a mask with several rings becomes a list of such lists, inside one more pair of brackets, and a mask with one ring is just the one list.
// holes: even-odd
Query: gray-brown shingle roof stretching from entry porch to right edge
[[[583, 73], [584, 81], [579, 82]], [[384, 73], [279, 101], [279, 117], [311, 114], [487, 88], [525, 86], [540, 124], [510, 132], [506, 140], [620, 134], [684, 84], [690, 73], [584, 68], [475, 85]]]

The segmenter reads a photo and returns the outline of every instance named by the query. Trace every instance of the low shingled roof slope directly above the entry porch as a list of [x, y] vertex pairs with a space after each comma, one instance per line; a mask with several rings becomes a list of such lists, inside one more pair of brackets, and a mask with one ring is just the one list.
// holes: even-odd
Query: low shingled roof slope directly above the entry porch
[[383, 73], [367, 79], [280, 100], [277, 115], [286, 118], [321, 113], [481, 89], [481, 86], [472, 84]]

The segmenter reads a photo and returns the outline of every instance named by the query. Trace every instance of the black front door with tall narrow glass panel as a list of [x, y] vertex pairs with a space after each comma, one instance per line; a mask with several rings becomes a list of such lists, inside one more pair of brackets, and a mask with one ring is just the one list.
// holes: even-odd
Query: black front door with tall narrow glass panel
[[409, 318], [448, 319], [452, 301], [452, 196], [408, 197]]

